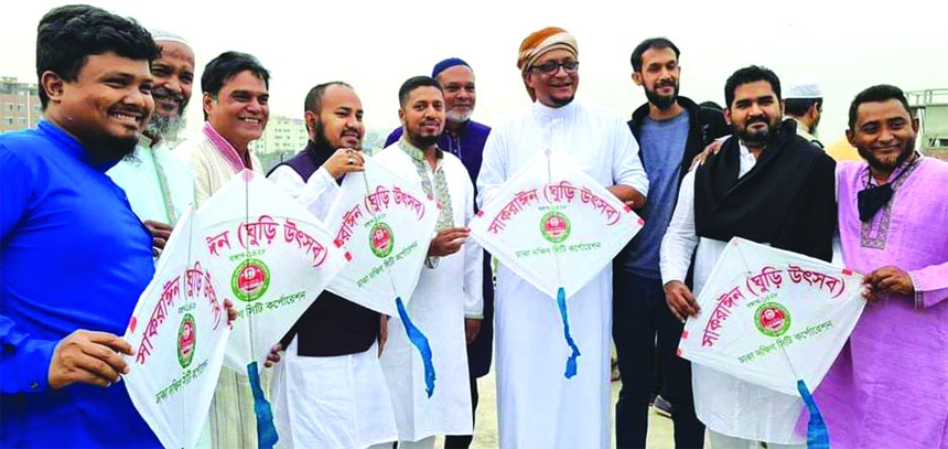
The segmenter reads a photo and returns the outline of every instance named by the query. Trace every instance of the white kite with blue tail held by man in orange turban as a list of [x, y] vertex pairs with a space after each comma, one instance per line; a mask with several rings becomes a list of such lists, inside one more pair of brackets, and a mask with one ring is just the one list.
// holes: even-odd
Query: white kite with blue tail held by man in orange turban
[[540, 152], [468, 224], [487, 252], [557, 299], [573, 350], [567, 377], [575, 375], [580, 355], [569, 332], [567, 299], [599, 275], [645, 224], [577, 167], [567, 154]]

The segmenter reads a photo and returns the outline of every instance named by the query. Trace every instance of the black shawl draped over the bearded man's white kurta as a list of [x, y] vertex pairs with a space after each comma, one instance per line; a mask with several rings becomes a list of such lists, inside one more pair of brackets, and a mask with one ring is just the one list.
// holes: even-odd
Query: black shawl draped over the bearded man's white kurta
[[743, 237], [832, 258], [837, 224], [836, 162], [783, 122], [751, 171], [739, 179], [739, 139], [731, 138], [694, 177], [694, 228], [701, 237]]

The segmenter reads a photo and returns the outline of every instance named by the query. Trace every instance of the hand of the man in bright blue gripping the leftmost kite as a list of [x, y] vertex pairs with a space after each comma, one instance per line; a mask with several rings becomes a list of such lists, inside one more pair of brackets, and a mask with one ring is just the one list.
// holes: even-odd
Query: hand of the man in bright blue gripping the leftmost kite
[[62, 388], [75, 383], [107, 387], [128, 374], [121, 355], [132, 355], [131, 345], [107, 332], [78, 330], [56, 344], [50, 362], [50, 387]]

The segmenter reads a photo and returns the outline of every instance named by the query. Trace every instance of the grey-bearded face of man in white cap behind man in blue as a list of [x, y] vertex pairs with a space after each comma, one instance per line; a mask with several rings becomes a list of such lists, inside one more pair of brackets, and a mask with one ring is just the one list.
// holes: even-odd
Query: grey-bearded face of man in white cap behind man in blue
[[151, 135], [163, 138], [177, 133], [194, 85], [194, 52], [185, 44], [158, 41], [161, 56], [151, 62], [154, 77], [154, 115], [148, 126]]

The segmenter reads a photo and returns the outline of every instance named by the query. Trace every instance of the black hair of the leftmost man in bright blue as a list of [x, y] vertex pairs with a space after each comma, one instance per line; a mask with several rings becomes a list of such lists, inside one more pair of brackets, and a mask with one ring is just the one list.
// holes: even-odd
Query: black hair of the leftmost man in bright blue
[[53, 72], [72, 82], [89, 56], [108, 52], [149, 63], [161, 55], [151, 33], [134, 19], [87, 4], [68, 4], [46, 12], [36, 26], [36, 78], [43, 109], [50, 103], [42, 87], [44, 73]]

